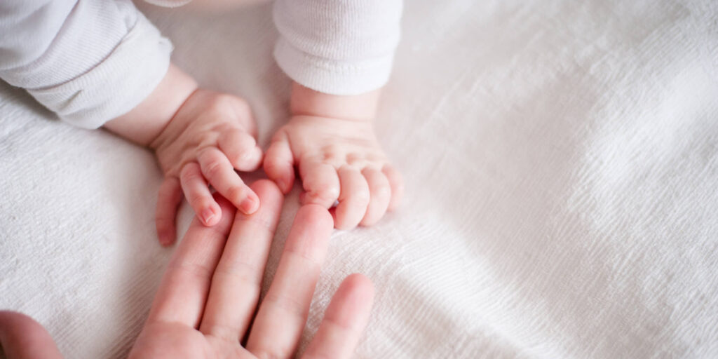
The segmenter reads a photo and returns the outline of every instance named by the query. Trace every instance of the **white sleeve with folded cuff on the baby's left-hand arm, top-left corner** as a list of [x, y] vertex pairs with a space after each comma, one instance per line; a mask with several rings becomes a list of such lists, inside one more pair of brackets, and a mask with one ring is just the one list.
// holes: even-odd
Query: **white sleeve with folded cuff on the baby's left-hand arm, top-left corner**
[[88, 129], [141, 103], [172, 51], [131, 0], [3, 0], [0, 34], [0, 78]]

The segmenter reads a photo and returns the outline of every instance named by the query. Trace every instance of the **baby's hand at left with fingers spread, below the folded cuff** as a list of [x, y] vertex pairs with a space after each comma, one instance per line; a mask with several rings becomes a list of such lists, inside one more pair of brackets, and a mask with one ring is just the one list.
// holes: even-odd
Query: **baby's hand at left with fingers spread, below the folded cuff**
[[251, 172], [261, 165], [256, 125], [246, 101], [234, 95], [196, 90], [150, 144], [164, 182], [157, 197], [157, 235], [163, 246], [174, 243], [175, 217], [182, 195], [207, 226], [222, 218], [208, 185], [242, 213], [259, 208], [259, 198], [235, 170]]

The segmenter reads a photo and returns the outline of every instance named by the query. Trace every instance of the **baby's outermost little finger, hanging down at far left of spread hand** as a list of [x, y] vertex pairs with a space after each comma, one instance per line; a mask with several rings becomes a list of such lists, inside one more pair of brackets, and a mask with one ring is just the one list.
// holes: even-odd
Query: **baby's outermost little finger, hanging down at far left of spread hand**
[[177, 177], [165, 177], [157, 194], [157, 211], [154, 224], [157, 226], [157, 238], [162, 246], [169, 246], [177, 238], [177, 206], [182, 202], [182, 186]]

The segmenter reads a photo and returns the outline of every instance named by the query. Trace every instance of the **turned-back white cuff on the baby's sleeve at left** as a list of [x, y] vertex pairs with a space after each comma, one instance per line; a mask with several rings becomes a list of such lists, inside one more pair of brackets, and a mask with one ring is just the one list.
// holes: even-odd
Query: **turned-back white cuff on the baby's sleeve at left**
[[92, 70], [66, 83], [28, 89], [63, 121], [97, 129], [141, 103], [169, 68], [172, 43], [142, 14], [117, 47]]

